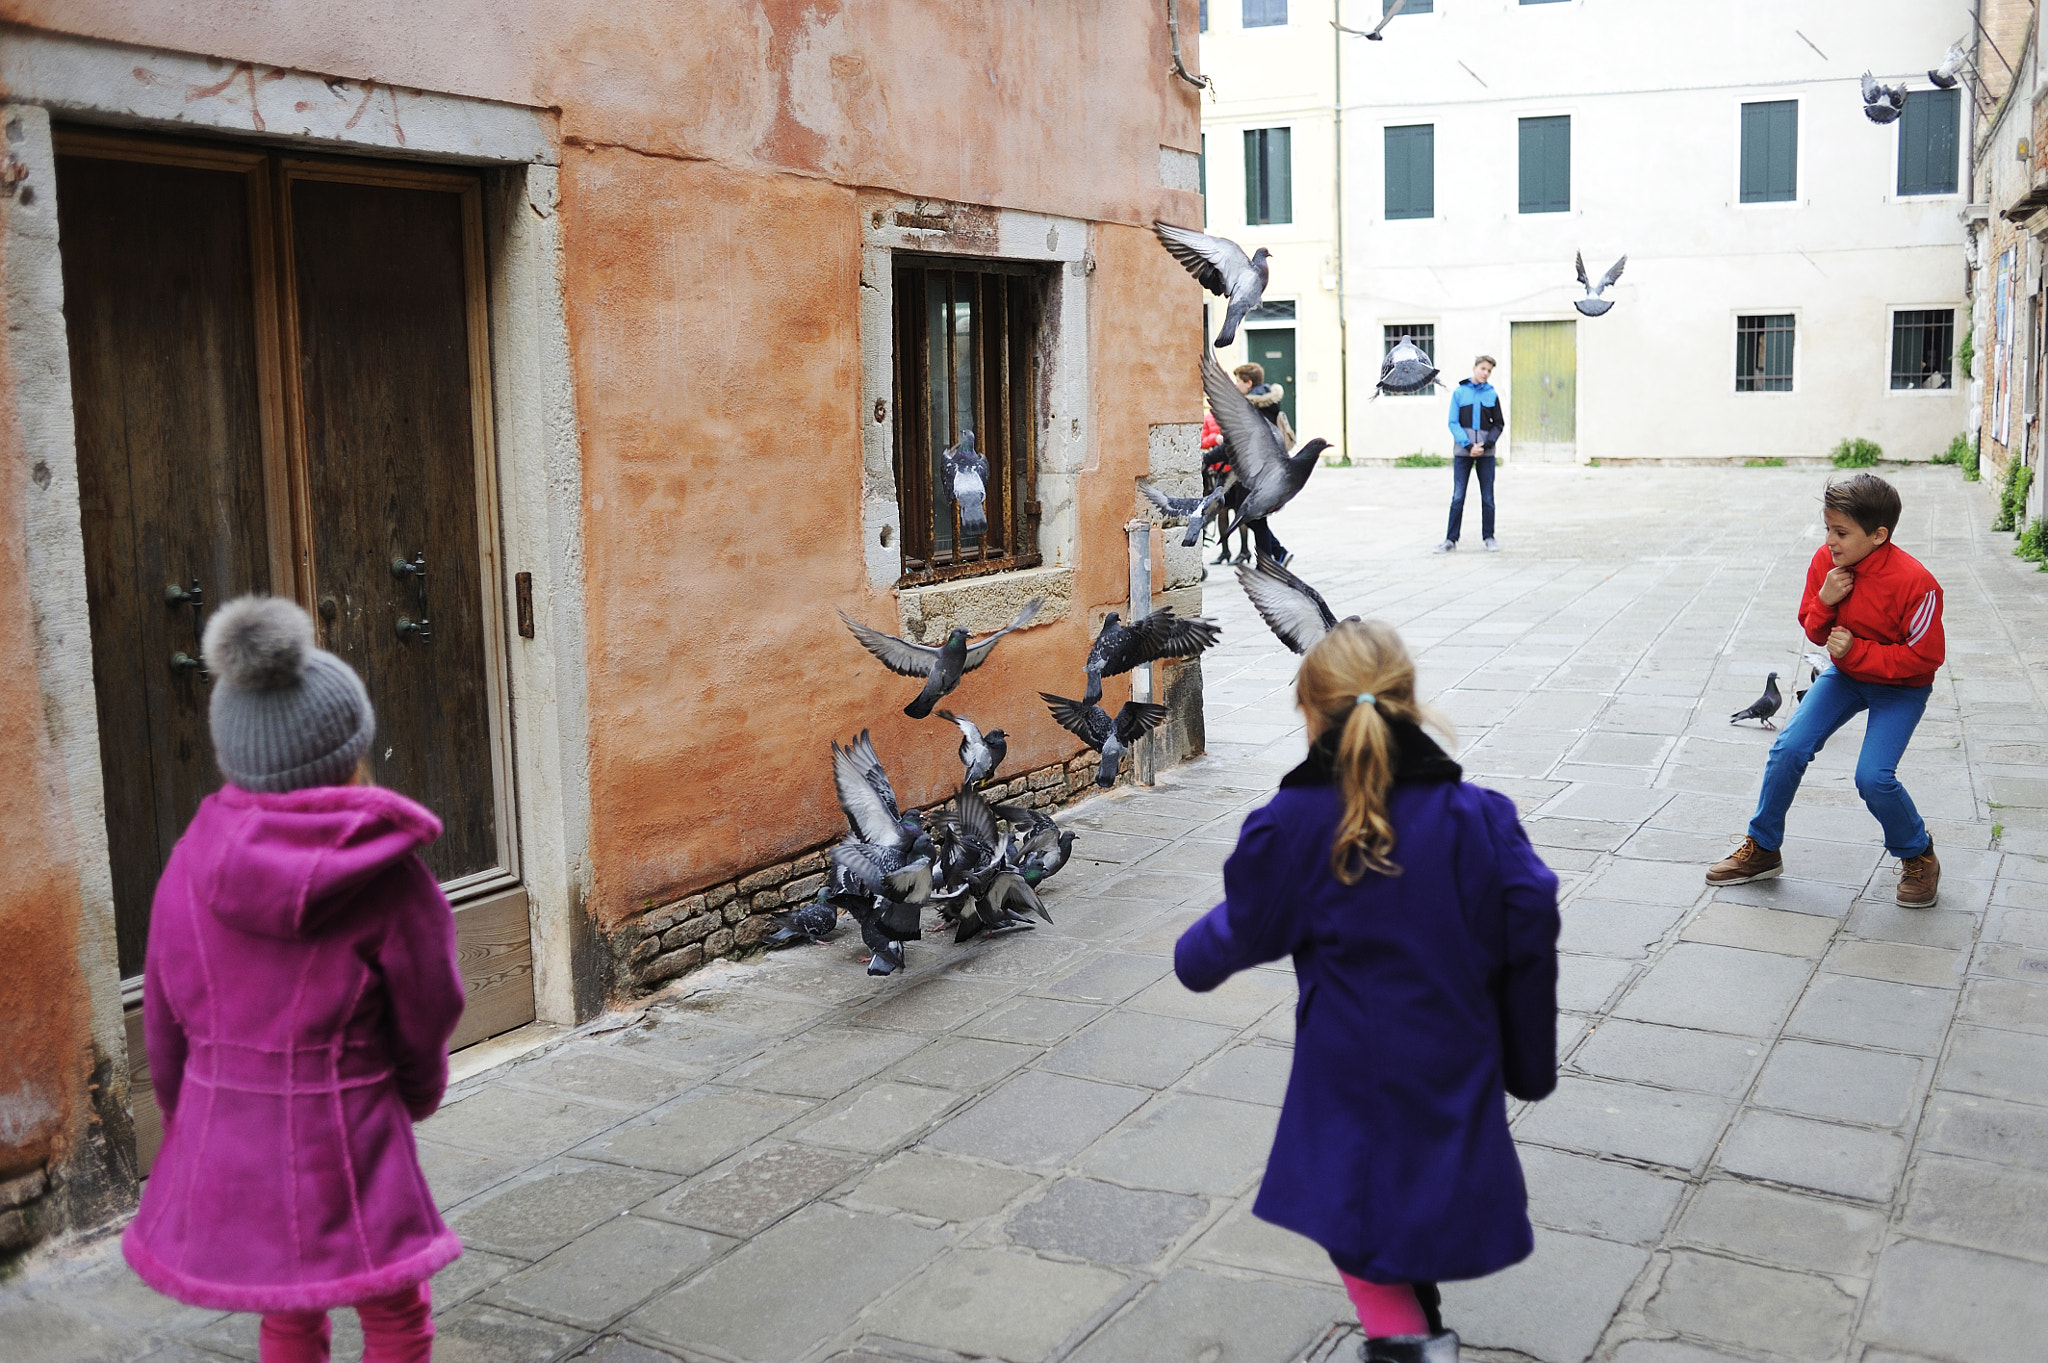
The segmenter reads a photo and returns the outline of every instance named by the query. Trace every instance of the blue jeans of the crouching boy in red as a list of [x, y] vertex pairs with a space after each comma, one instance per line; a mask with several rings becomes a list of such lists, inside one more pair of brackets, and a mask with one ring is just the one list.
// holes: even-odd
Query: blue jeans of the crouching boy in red
[[1917, 858], [1927, 851], [1933, 839], [1913, 808], [1913, 796], [1898, 784], [1898, 759], [1927, 710], [1929, 692], [1931, 686], [1884, 686], [1853, 682], [1835, 667], [1823, 671], [1763, 763], [1763, 794], [1757, 796], [1757, 817], [1749, 821], [1749, 837], [1757, 839], [1757, 847], [1778, 851], [1784, 845], [1786, 810], [1798, 792], [1798, 780], [1806, 776], [1806, 763], [1858, 710], [1870, 710], [1864, 751], [1855, 759], [1855, 794], [1864, 796], [1864, 804], [1884, 827], [1888, 853]]

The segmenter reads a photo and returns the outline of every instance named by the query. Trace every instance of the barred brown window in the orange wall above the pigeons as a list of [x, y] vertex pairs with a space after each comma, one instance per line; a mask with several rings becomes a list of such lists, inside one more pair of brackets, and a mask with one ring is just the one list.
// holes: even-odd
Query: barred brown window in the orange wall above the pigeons
[[[895, 258], [895, 475], [903, 579], [1036, 567], [1042, 266]], [[963, 534], [946, 450], [989, 460], [987, 534]]]

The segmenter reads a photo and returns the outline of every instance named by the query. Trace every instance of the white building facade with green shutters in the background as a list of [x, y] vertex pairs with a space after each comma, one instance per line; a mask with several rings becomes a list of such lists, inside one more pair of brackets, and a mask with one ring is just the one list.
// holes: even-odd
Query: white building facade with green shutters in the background
[[[1925, 72], [1970, 4], [1409, 0], [1384, 41], [1335, 27], [1386, 4], [1202, 6], [1208, 229], [1272, 250], [1223, 358], [1290, 377], [1303, 436], [1448, 452], [1477, 354], [1509, 458], [1812, 458], [1845, 436], [1929, 458], [1964, 430], [1970, 96]], [[1901, 121], [1864, 117], [1866, 68], [1909, 80]], [[1628, 256], [1604, 317], [1573, 309], [1575, 252], [1595, 278]], [[1403, 332], [1444, 381], [1374, 399]]]

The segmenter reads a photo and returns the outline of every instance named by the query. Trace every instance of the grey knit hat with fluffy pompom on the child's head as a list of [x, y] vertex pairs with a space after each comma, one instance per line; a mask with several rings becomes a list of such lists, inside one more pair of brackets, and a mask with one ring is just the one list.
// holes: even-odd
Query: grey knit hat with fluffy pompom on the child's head
[[244, 596], [207, 620], [213, 755], [244, 790], [346, 786], [377, 737], [362, 677], [313, 647], [313, 618], [281, 596]]

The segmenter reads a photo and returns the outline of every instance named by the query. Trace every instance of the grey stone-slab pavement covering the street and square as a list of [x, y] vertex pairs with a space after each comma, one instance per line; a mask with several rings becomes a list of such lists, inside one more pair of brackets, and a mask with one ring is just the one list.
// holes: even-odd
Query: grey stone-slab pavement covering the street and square
[[[1407, 632], [1460, 761], [1567, 888], [1563, 1079], [1509, 1107], [1538, 1248], [1446, 1285], [1468, 1357], [2040, 1359], [2048, 579], [1980, 528], [1987, 489], [1896, 471], [1901, 542], [1948, 589], [1952, 665], [1901, 767], [1942, 905], [1890, 903], [1860, 720], [1808, 772], [1788, 874], [1710, 890], [1772, 741], [1726, 716], [1806, 647], [1817, 475], [1509, 463], [1505, 551], [1438, 557], [1442, 481], [1325, 469], [1280, 532], [1339, 614]], [[457, 1085], [420, 1128], [469, 1238], [434, 1283], [436, 1357], [1352, 1357], [1327, 1257], [1251, 1214], [1286, 964], [1212, 995], [1169, 974], [1303, 751], [1292, 655], [1225, 573], [1208, 610], [1210, 755], [1067, 817], [1053, 925], [913, 943], [889, 980], [842, 933]], [[352, 1314], [336, 1336], [354, 1359]], [[254, 1318], [156, 1298], [102, 1238], [0, 1283], [14, 1340], [219, 1363], [254, 1359]]]

